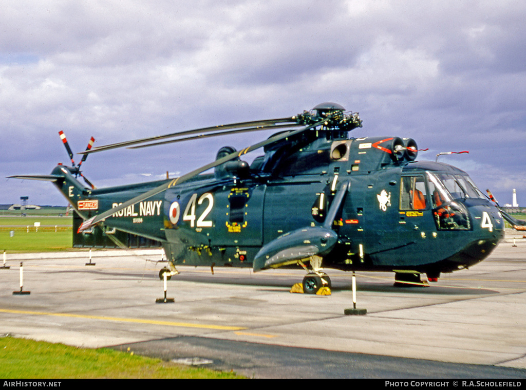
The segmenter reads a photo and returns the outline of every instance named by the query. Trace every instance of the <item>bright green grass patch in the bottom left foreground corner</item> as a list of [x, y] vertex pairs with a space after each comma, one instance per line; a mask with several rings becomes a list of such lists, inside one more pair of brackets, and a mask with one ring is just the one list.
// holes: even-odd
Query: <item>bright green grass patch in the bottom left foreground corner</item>
[[63, 344], [0, 338], [0, 378], [240, 378], [186, 367], [133, 351], [85, 349]]

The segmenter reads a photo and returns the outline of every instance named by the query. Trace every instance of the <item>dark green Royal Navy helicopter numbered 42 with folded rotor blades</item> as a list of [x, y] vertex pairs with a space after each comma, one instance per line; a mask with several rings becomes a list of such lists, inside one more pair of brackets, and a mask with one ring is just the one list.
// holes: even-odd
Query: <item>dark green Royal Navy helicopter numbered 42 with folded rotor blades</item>
[[[95, 189], [76, 177], [80, 164], [50, 175], [85, 220], [163, 243], [175, 265], [301, 266], [304, 292], [330, 287], [324, 268], [395, 272], [399, 283], [437, 281], [441, 273], [477, 264], [504, 235], [504, 214], [466, 172], [417, 162], [417, 144], [399, 137], [350, 138], [357, 113], [335, 103], [310, 112], [200, 128], [93, 148], [88, 153], [268, 129], [279, 133], [241, 151], [219, 149], [216, 161], [175, 179]], [[62, 134], [61, 134], [62, 137]], [[170, 138], [170, 139], [168, 139]], [[64, 138], [65, 141], [65, 138]], [[133, 146], [132, 146], [133, 145]], [[249, 165], [242, 157], [264, 154]], [[82, 162], [81, 162], [82, 163]], [[205, 171], [213, 168], [213, 173]], [[161, 270], [161, 273], [165, 272]]]

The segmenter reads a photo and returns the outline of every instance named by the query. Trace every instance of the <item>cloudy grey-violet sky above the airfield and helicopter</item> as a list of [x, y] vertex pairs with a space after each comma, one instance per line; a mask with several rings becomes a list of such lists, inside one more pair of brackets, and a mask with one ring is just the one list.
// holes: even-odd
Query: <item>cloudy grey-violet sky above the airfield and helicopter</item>
[[[0, 0], [0, 177], [47, 174], [95, 145], [291, 116], [359, 112], [352, 136], [416, 139], [526, 206], [526, 2]], [[270, 134], [90, 155], [99, 187], [185, 173]], [[75, 157], [78, 159], [78, 157]], [[147, 176], [149, 175], [149, 176]], [[0, 203], [66, 204], [1, 178]]]

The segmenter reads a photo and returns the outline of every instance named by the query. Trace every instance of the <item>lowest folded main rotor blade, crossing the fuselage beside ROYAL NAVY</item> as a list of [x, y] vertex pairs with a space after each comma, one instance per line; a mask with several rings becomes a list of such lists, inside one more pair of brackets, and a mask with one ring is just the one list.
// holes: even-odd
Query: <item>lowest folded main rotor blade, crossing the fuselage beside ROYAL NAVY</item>
[[180, 177], [178, 177], [176, 179], [173, 179], [173, 180], [171, 180], [171, 181], [169, 181], [167, 183], [161, 184], [160, 186], [158, 186], [156, 188], [150, 189], [150, 191], [145, 192], [144, 194], [141, 194], [141, 195], [138, 195], [138, 196], [136, 196], [134, 198], [131, 198], [129, 201], [124, 202], [124, 203], [120, 204], [119, 206], [117, 206], [115, 208], [109, 209], [108, 211], [105, 211], [102, 214], [99, 214], [99, 215], [96, 215], [96, 216], [94, 216], [92, 218], [87, 219], [87, 221], [85, 221], [78, 228], [78, 233], [80, 233], [82, 231], [85, 231], [86, 229], [89, 229], [90, 227], [92, 227], [93, 225], [95, 225], [95, 224], [97, 224], [97, 223], [99, 223], [101, 221], [104, 221], [104, 219], [106, 219], [107, 217], [112, 216], [115, 213], [118, 213], [119, 211], [125, 209], [128, 206], [131, 206], [131, 205], [134, 205], [136, 203], [142, 202], [142, 201], [144, 201], [145, 199], [148, 199], [151, 196], [155, 196], [155, 195], [165, 191], [166, 189], [175, 186], [176, 184], [184, 183], [187, 180], [193, 178], [194, 176], [197, 176], [198, 174], [200, 174], [202, 172], [208, 171], [208, 169], [210, 169], [210, 168], [214, 168], [216, 166], [224, 164], [224, 163], [226, 163], [228, 161], [231, 161], [231, 160], [233, 160], [235, 158], [241, 157], [241, 155], [244, 155], [244, 154], [247, 154], [247, 153], [249, 153], [251, 151], [254, 151], [255, 149], [258, 149], [260, 147], [263, 147], [263, 146], [275, 143], [277, 141], [280, 141], [281, 139], [288, 138], [288, 137], [300, 134], [300, 133], [305, 132], [305, 131], [307, 131], [307, 130], [309, 130], [311, 128], [315, 128], [317, 126], [320, 126], [323, 123], [325, 123], [325, 119], [323, 121], [316, 122], [316, 123], [314, 123], [312, 125], [309, 125], [309, 126], [306, 126], [306, 127], [303, 127], [303, 128], [291, 131], [291, 132], [275, 135], [274, 137], [270, 137], [268, 139], [265, 139], [265, 141], [258, 142], [257, 144], [254, 144], [254, 145], [251, 145], [251, 146], [249, 146], [249, 147], [247, 147], [245, 149], [242, 149], [241, 151], [236, 151], [234, 153], [230, 153], [229, 155], [227, 155], [225, 157], [217, 159], [213, 163], [210, 163], [210, 164], [207, 164], [207, 165], [202, 166], [200, 168], [197, 168], [194, 171], [191, 171], [191, 172], [189, 172], [189, 173], [187, 173], [187, 174], [185, 174], [183, 176], [180, 176]]

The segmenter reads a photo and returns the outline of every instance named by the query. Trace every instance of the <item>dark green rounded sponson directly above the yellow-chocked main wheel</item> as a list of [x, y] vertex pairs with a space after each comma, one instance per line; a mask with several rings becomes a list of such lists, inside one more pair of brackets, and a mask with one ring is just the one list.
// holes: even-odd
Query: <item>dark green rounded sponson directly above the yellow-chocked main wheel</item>
[[272, 240], [260, 249], [252, 267], [254, 272], [297, 263], [310, 256], [329, 253], [338, 234], [325, 227], [304, 227]]

